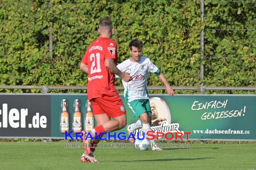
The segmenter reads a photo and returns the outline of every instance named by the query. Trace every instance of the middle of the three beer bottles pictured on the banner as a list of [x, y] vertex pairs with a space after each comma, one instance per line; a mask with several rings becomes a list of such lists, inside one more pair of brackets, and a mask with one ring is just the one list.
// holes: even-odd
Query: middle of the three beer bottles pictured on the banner
[[80, 101], [79, 99], [75, 99], [74, 102], [75, 112], [73, 114], [73, 131], [74, 133], [82, 131], [82, 114], [80, 112]]

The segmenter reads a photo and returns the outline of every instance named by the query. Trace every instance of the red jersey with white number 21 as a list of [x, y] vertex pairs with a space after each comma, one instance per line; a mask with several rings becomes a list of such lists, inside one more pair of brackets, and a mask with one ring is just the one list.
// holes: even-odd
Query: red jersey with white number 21
[[117, 63], [116, 43], [110, 38], [97, 38], [88, 47], [82, 59], [88, 65], [88, 99], [116, 95], [115, 74], [105, 66], [105, 59]]

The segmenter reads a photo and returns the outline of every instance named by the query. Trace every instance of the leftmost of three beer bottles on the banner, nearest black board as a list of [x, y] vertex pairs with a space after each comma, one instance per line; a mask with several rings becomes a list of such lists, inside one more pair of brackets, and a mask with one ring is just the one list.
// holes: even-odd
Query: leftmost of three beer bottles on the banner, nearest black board
[[67, 101], [66, 99], [62, 100], [62, 113], [60, 116], [60, 130], [61, 133], [69, 132], [69, 113], [67, 112]]

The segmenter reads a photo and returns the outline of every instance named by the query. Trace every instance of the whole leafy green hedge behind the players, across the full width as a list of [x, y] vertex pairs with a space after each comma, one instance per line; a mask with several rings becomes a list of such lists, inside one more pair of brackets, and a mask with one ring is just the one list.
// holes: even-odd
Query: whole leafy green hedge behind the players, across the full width
[[[170, 85], [200, 85], [200, 63], [205, 64], [204, 85], [256, 85], [255, 3], [208, 0], [202, 24], [199, 2], [53, 0], [51, 11], [44, 0], [2, 0], [0, 85], [86, 85], [87, 76], [79, 64], [88, 45], [98, 37], [97, 25], [105, 16], [115, 26], [119, 63], [129, 57], [128, 43], [139, 38], [144, 43], [143, 55], [161, 68]], [[50, 22], [53, 56], [49, 55]], [[201, 28], [207, 57], [203, 60]], [[151, 75], [149, 85], [163, 84]]]

